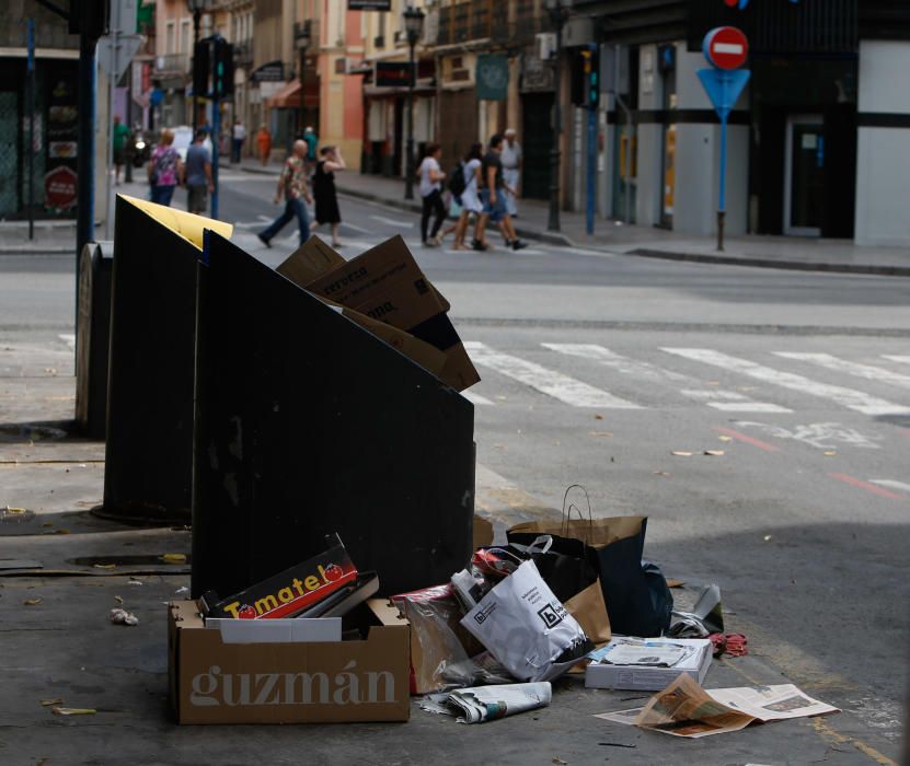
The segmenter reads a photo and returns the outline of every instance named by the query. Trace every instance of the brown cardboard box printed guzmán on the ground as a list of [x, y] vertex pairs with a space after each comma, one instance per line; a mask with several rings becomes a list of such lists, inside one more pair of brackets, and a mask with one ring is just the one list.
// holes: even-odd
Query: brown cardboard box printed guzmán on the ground
[[[194, 601], [168, 610], [171, 707], [180, 723], [406, 721], [410, 628], [377, 599], [350, 617], [361, 640], [226, 643]], [[348, 625], [348, 618], [345, 618]]]

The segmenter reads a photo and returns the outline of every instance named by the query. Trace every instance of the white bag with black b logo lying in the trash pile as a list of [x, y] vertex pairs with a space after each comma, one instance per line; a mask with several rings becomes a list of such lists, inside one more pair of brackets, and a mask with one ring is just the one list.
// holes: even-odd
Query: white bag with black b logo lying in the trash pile
[[533, 561], [489, 591], [461, 624], [520, 681], [552, 681], [594, 649]]

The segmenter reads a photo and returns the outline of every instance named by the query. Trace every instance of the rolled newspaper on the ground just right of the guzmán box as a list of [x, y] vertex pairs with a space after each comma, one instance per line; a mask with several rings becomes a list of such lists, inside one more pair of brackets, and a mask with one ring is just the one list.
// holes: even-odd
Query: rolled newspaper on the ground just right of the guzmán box
[[549, 681], [472, 686], [428, 695], [421, 701], [421, 707], [429, 712], [460, 713], [461, 717], [457, 719], [459, 723], [483, 723], [545, 707], [550, 705], [552, 694]]

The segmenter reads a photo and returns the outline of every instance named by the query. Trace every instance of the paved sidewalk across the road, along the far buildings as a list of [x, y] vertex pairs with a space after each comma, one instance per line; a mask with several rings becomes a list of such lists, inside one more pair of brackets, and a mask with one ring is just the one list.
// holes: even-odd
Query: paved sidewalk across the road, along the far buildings
[[[263, 166], [256, 161], [244, 161], [240, 167], [272, 176], [277, 176], [281, 170], [280, 163]], [[419, 199], [404, 199], [404, 182], [400, 178], [352, 171], [337, 173], [335, 185], [338, 192], [352, 197], [382, 202], [415, 214], [421, 212]], [[624, 225], [602, 218], [596, 219], [595, 233], [589, 236], [585, 230], [585, 216], [578, 212], [561, 211], [561, 231], [551, 232], [546, 230], [548, 213], [545, 201], [520, 200], [519, 217], [515, 221], [519, 236], [555, 245], [591, 247], [668, 260], [910, 277], [910, 248], [862, 247], [848, 240], [748, 235], [727, 237], [724, 252], [718, 253], [714, 237], [680, 234], [654, 227]]]

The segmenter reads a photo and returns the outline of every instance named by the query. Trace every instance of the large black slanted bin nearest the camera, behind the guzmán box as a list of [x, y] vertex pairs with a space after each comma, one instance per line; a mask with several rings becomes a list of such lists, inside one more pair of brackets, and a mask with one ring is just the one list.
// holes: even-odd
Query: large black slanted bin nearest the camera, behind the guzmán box
[[207, 232], [199, 264], [192, 594], [243, 590], [337, 532], [382, 593], [470, 560], [473, 405]]

